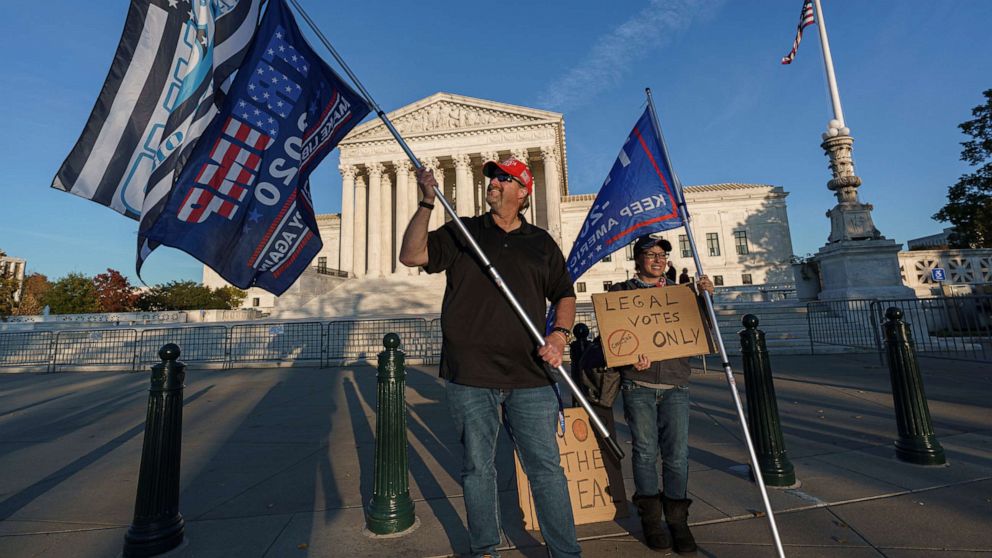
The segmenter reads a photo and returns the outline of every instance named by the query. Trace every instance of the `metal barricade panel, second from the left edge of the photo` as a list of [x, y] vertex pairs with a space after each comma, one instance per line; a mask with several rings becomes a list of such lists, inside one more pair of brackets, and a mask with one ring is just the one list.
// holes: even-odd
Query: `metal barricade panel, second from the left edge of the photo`
[[138, 332], [134, 329], [60, 331], [50, 370], [68, 366], [103, 366], [106, 370], [134, 370]]

